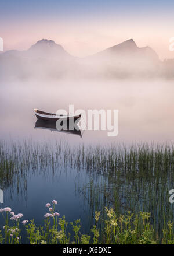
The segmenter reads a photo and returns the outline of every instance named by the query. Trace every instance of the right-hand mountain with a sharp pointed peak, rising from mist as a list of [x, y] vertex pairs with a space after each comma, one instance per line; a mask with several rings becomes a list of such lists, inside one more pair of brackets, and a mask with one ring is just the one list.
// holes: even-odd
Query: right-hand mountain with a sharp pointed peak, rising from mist
[[86, 58], [86, 65], [92, 62], [95, 66], [92, 72], [107, 77], [125, 78], [128, 76], [157, 76], [161, 62], [156, 52], [150, 47], [137, 47], [133, 39], [129, 39], [97, 52]]

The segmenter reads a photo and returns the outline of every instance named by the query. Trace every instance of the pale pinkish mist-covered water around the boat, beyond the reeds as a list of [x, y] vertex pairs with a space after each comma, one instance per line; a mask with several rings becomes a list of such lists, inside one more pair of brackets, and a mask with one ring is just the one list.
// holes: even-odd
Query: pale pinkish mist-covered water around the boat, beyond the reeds
[[[0, 88], [1, 139], [67, 140], [69, 143], [132, 143], [173, 141], [173, 82], [167, 80], [101, 80], [3, 82]], [[74, 105], [82, 109], [118, 110], [118, 136], [82, 131], [82, 138], [64, 132], [34, 129], [34, 108], [56, 113]], [[99, 125], [100, 129], [100, 125]]]

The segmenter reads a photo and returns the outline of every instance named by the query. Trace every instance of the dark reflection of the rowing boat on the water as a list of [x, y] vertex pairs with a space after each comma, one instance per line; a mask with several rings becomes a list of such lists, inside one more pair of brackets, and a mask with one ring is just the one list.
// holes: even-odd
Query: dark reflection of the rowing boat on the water
[[51, 122], [51, 121], [42, 121], [42, 120], [37, 120], [35, 122], [35, 129], [47, 129], [50, 131], [55, 131], [55, 132], [64, 132], [67, 134], [74, 134], [74, 135], [79, 135], [82, 138], [82, 133], [81, 130], [74, 129], [62, 129], [61, 131], [57, 130], [56, 128], [56, 122]]

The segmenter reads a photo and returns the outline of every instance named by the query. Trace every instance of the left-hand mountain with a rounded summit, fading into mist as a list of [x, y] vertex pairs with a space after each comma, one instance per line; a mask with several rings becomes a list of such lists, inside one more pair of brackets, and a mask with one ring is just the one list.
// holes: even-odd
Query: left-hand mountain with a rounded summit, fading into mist
[[26, 51], [11, 50], [0, 55], [1, 78], [60, 78], [74, 65], [75, 57], [52, 40], [42, 39]]

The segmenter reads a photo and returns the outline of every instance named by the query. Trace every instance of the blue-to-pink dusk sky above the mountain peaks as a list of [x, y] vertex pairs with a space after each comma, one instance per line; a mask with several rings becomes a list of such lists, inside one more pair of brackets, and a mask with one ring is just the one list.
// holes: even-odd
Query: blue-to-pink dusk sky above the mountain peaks
[[161, 59], [174, 58], [174, 1], [39, 0], [0, 2], [4, 50], [27, 50], [42, 38], [84, 57], [133, 38]]

